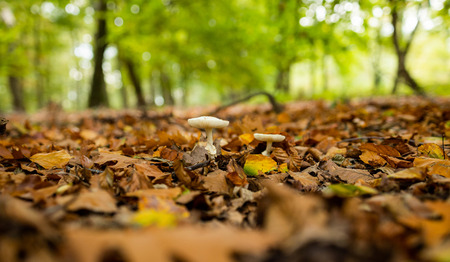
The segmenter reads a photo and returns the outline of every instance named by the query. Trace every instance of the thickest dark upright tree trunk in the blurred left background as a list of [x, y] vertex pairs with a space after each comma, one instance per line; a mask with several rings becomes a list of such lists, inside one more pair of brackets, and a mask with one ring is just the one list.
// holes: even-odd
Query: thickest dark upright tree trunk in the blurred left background
[[89, 107], [108, 106], [108, 94], [103, 74], [103, 55], [107, 46], [106, 36], [106, 0], [97, 3], [97, 33], [95, 35], [94, 75], [92, 77], [91, 93], [89, 95]]

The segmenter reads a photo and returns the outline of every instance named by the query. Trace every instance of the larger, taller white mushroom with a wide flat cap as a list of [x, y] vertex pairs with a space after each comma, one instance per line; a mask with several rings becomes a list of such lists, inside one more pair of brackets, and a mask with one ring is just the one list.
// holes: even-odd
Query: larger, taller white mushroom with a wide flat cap
[[217, 150], [213, 145], [212, 131], [214, 128], [223, 128], [228, 126], [228, 121], [212, 116], [200, 116], [188, 119], [188, 124], [195, 128], [205, 129], [206, 132], [206, 151], [211, 155], [216, 155]]

